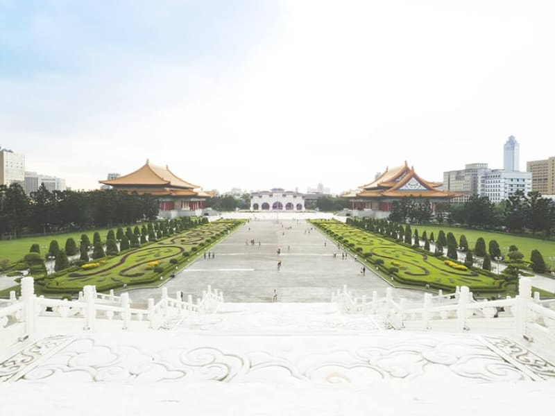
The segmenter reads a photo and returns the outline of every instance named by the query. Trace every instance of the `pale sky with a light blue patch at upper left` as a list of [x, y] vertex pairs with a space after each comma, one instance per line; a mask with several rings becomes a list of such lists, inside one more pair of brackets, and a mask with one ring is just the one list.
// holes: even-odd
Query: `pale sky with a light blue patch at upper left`
[[555, 155], [552, 1], [0, 0], [0, 146], [96, 189], [146, 159], [221, 192], [407, 161], [427, 180], [510, 135]]

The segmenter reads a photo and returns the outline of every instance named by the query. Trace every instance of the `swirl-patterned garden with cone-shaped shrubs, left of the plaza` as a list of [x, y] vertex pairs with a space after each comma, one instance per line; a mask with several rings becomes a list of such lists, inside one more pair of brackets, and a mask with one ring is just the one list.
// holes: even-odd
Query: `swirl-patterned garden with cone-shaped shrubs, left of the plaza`
[[[141, 228], [128, 227], [125, 231], [109, 230], [105, 241], [101, 241], [96, 232], [92, 245], [83, 234], [80, 250], [71, 243], [73, 239], [68, 239], [62, 250], [58, 241], [51, 242], [44, 257], [55, 259], [56, 272], [46, 273], [44, 257], [35, 252], [38, 249], [36, 244], [24, 260], [10, 268], [12, 273], [28, 270], [28, 275], [35, 277], [39, 294], [76, 294], [85, 285], [95, 285], [98, 291], [131, 285], [150, 286], [171, 277], [177, 269], [185, 267], [242, 223], [244, 220], [207, 223], [200, 218], [160, 221]], [[92, 255], [89, 256], [91, 247]], [[70, 255], [80, 252], [80, 258], [70, 264], [67, 252]]]

